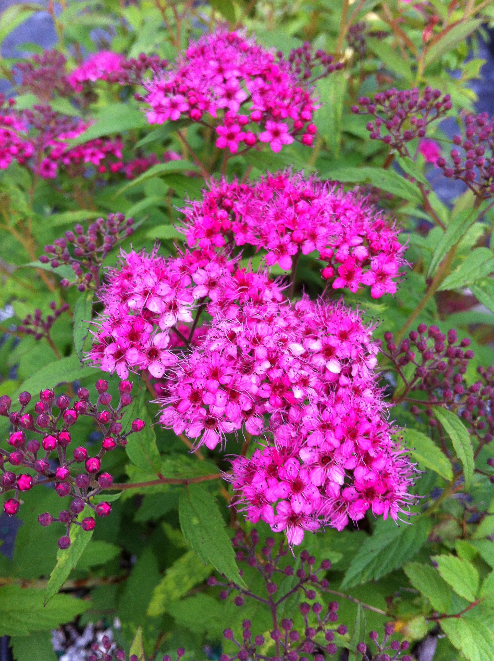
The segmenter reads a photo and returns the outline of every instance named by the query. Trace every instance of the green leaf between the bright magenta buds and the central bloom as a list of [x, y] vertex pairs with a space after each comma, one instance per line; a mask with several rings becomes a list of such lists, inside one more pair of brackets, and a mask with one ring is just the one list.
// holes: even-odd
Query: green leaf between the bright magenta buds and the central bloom
[[[128, 458], [140, 469], [151, 475], [157, 475], [161, 469], [161, 456], [156, 446], [156, 434], [152, 426], [151, 416], [147, 410], [147, 397], [141, 391], [132, 402], [129, 414], [122, 419], [122, 425], [128, 425], [134, 418], [144, 420], [145, 427], [142, 432], [134, 432], [127, 438], [125, 450]], [[124, 426], [125, 428], [125, 426]]]

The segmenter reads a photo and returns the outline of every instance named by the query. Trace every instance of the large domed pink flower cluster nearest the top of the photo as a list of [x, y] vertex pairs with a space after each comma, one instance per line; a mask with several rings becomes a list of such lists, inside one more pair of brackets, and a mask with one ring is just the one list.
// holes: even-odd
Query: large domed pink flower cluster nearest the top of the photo
[[[313, 87], [300, 67], [280, 55], [243, 32], [220, 30], [202, 36], [170, 71], [144, 81], [149, 124], [181, 117], [199, 122], [206, 113], [218, 118], [221, 112], [216, 126], [220, 149], [236, 153], [241, 143], [248, 148], [259, 140], [278, 152], [296, 137], [311, 145], [316, 132], [311, 119], [319, 107]], [[327, 73], [333, 58], [321, 52], [310, 62]]]

